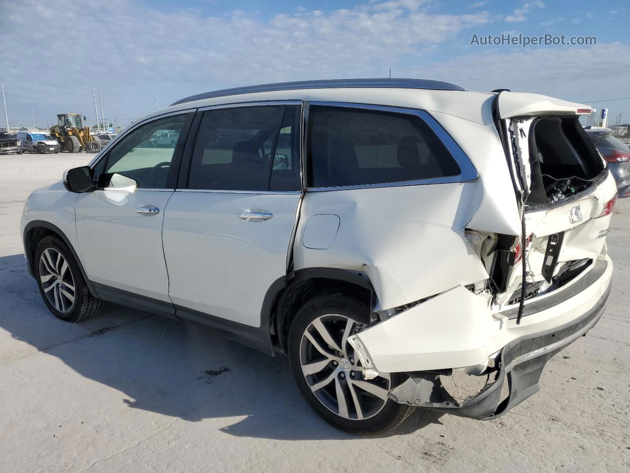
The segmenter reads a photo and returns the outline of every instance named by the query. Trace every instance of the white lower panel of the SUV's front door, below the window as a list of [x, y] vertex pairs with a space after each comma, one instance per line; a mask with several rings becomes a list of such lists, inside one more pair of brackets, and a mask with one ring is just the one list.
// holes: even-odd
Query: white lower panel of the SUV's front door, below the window
[[[79, 194], [76, 229], [83, 266], [91, 281], [169, 301], [162, 250], [168, 190], [107, 189]], [[152, 206], [157, 214], [140, 214]]]

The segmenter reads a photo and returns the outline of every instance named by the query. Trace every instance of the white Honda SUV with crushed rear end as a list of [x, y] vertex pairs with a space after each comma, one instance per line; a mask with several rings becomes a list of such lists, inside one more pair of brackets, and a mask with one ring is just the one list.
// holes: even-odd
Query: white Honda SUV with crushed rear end
[[[590, 112], [415, 79], [192, 96], [31, 194], [28, 269], [62, 320], [112, 301], [286, 354], [348, 431], [414, 406], [496, 418], [609, 295], [616, 186]], [[461, 397], [462, 373], [488, 382]]]

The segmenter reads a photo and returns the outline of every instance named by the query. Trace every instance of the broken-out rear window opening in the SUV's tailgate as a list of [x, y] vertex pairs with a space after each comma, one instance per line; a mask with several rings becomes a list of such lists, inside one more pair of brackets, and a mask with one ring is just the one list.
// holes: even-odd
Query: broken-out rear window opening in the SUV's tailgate
[[529, 135], [530, 206], [553, 204], [593, 185], [605, 163], [577, 117], [541, 117]]

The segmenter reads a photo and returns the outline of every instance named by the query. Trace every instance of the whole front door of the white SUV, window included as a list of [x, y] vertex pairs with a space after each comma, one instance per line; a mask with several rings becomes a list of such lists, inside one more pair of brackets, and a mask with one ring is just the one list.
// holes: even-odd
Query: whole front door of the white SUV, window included
[[74, 206], [81, 259], [94, 283], [170, 303], [162, 223], [193, 115], [140, 124], [96, 163], [101, 188], [79, 194]]

